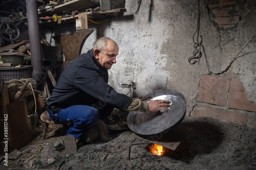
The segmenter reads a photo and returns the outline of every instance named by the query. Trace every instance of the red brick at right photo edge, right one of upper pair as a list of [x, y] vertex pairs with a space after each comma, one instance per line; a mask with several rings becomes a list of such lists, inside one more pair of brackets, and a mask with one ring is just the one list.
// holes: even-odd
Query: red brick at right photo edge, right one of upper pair
[[239, 79], [232, 79], [230, 82], [228, 108], [256, 112], [256, 105], [247, 100], [245, 88]]

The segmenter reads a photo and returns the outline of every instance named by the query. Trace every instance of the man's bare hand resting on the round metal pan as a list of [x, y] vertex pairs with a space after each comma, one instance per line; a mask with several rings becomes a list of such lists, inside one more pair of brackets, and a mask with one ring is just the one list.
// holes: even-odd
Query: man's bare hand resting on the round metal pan
[[148, 102], [147, 105], [147, 111], [151, 112], [157, 110], [168, 110], [168, 107], [170, 107], [170, 101], [154, 100], [152, 102]]

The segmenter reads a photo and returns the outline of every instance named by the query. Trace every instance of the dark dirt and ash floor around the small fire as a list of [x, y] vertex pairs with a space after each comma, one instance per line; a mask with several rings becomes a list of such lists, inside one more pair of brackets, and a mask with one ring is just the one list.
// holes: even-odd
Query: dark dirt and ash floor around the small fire
[[[113, 116], [107, 122], [113, 118], [122, 117]], [[41, 151], [52, 138], [62, 135], [63, 129], [50, 126], [47, 139], [41, 140], [43, 125], [37, 125], [33, 127], [34, 139], [15, 157], [9, 154], [8, 167], [2, 160], [0, 169], [54, 169], [59, 165], [59, 169], [256, 169], [256, 129], [209, 117], [185, 116], [181, 125], [191, 130], [175, 151], [165, 149], [162, 156], [152, 154], [149, 144], [141, 144], [132, 146], [129, 160], [133, 132], [122, 127], [123, 131], [110, 128], [111, 141], [83, 145], [76, 154], [56, 156], [49, 165], [40, 163]]]

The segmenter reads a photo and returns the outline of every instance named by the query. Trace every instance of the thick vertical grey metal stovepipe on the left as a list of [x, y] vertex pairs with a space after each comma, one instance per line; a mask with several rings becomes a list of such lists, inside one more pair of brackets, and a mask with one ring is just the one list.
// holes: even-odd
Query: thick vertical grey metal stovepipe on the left
[[31, 65], [33, 67], [32, 78], [35, 79], [37, 87], [42, 87], [44, 83], [42, 83], [43, 81], [41, 79], [44, 72], [42, 68], [42, 55], [36, 0], [26, 0], [26, 6], [31, 49]]

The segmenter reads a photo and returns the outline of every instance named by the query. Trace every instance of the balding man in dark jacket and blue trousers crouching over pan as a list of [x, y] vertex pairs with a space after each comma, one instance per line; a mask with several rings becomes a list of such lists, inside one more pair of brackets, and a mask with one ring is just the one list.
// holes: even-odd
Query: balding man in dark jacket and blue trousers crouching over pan
[[62, 71], [48, 100], [47, 111], [55, 122], [70, 124], [67, 135], [79, 139], [90, 130], [97, 134], [95, 127], [98, 127], [101, 139], [108, 140], [107, 134], [100, 132], [104, 127], [101, 120], [114, 108], [147, 112], [167, 110], [170, 106], [169, 101], [143, 103], [139, 99], [133, 100], [108, 84], [108, 69], [116, 63], [118, 51], [114, 40], [101, 37], [93, 43], [92, 50], [78, 56]]

